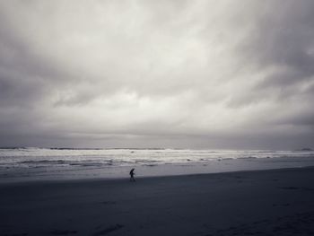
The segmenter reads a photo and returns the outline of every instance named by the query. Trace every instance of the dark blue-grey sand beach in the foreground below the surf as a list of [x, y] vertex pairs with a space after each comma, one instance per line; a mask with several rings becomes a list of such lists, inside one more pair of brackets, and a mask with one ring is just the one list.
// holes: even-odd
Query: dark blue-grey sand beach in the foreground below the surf
[[314, 168], [0, 184], [0, 235], [314, 235]]

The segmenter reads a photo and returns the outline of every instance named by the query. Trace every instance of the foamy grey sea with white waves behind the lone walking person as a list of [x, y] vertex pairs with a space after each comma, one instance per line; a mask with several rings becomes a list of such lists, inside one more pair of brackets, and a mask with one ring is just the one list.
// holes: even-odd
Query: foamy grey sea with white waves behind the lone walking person
[[0, 181], [128, 178], [314, 166], [313, 151], [0, 149]]

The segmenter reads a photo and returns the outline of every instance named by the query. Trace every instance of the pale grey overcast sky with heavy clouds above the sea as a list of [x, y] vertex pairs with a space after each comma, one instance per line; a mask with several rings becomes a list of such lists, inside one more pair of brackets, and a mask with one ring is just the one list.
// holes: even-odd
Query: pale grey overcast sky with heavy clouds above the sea
[[314, 1], [0, 0], [0, 146], [314, 148]]

